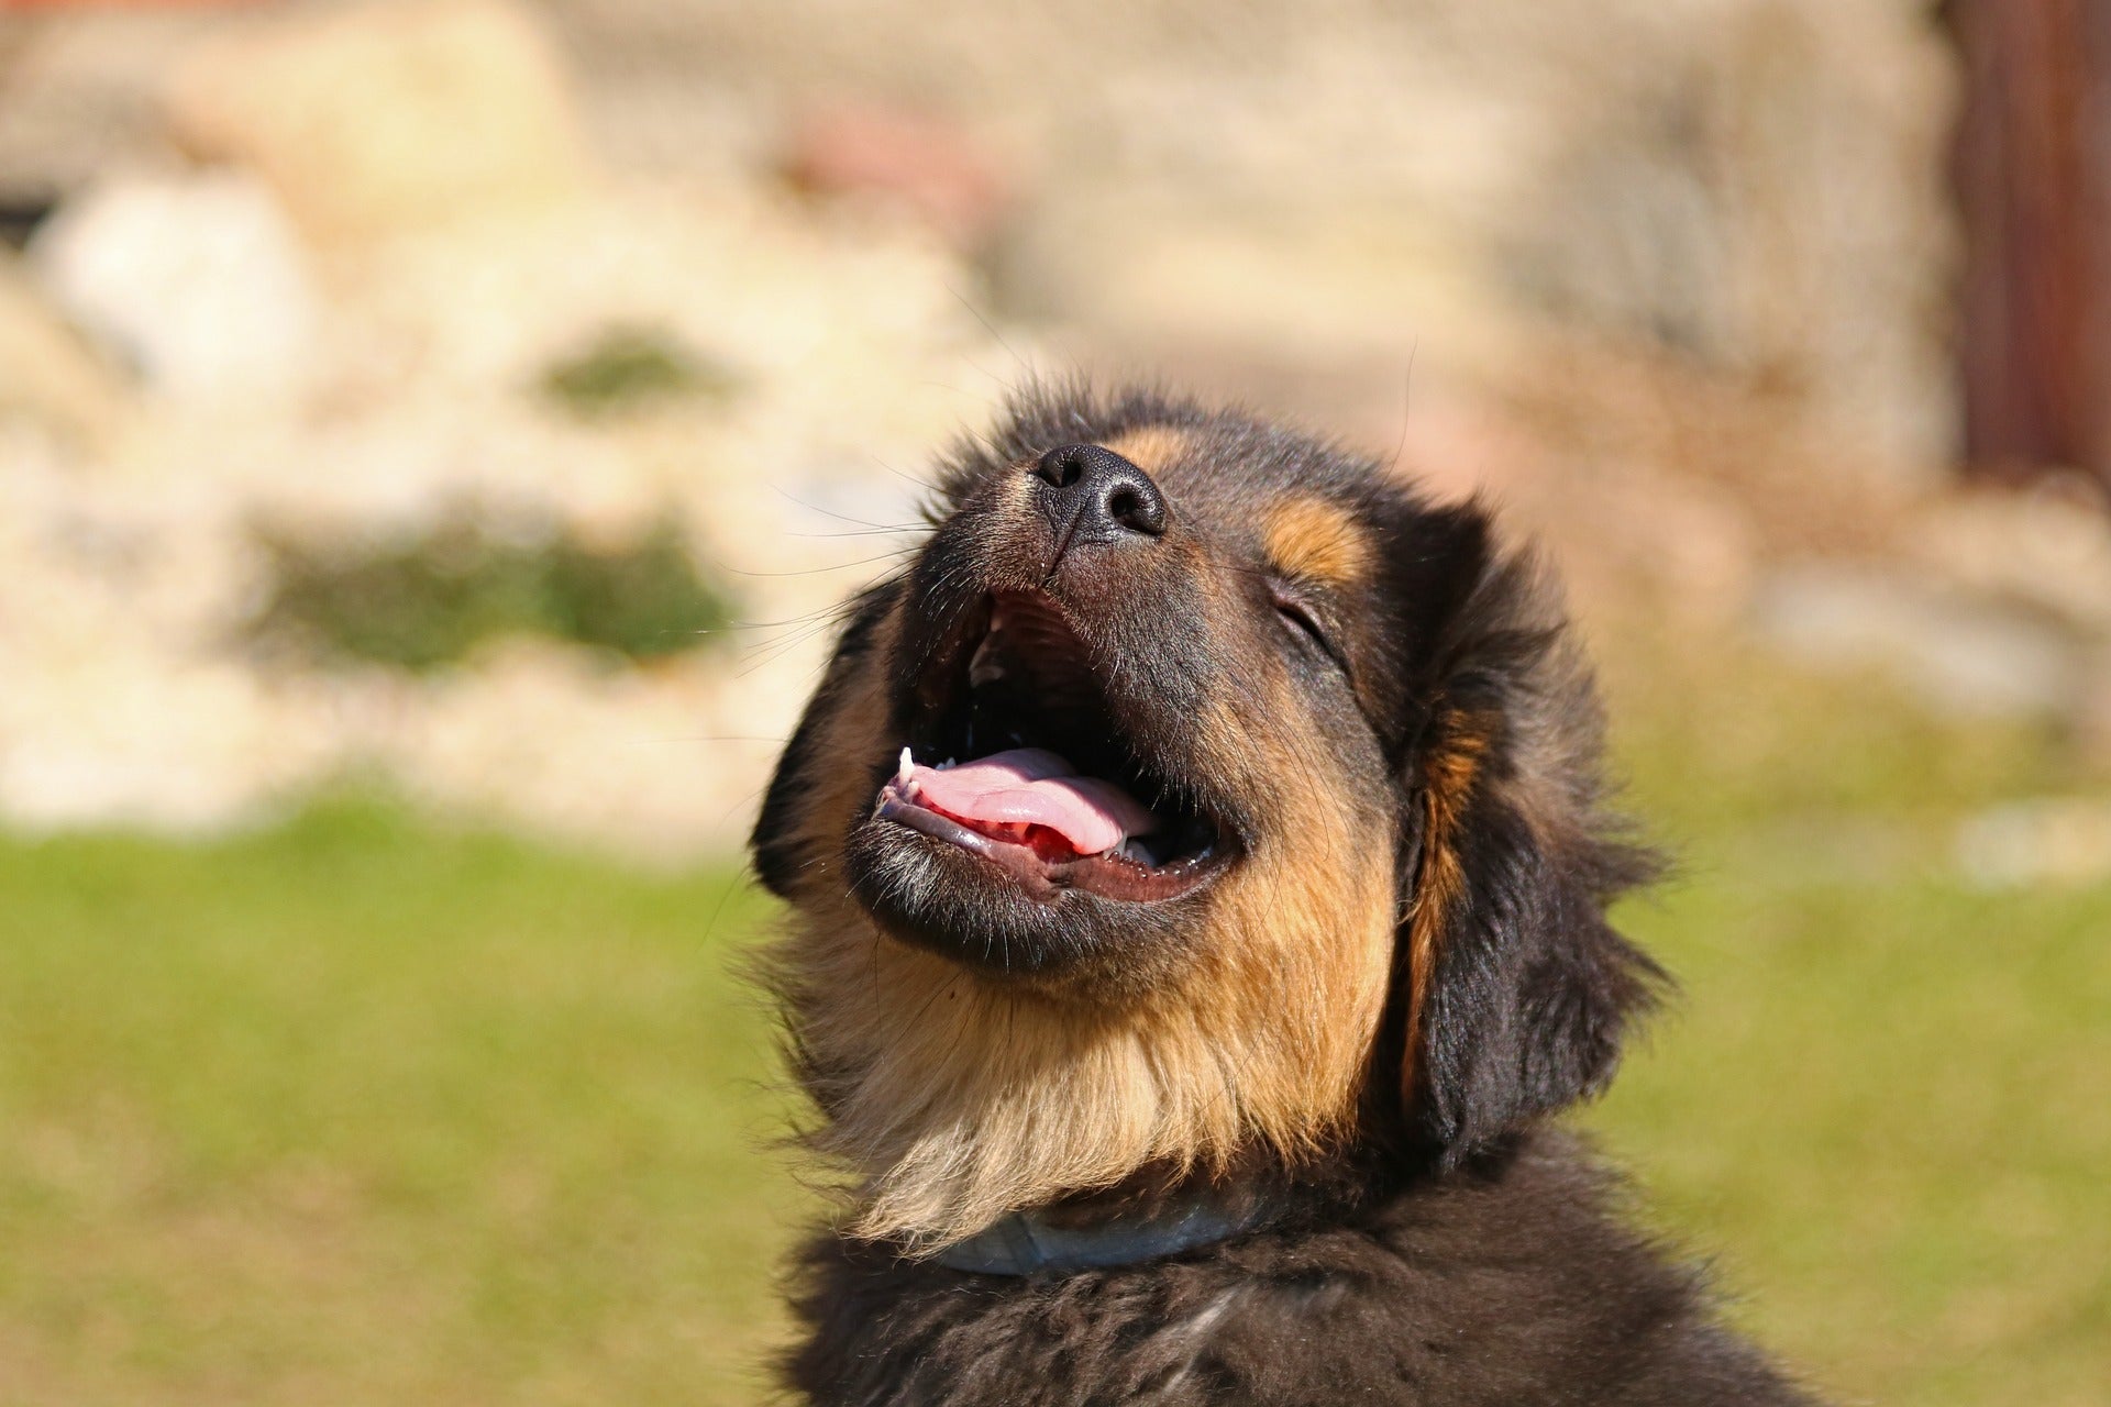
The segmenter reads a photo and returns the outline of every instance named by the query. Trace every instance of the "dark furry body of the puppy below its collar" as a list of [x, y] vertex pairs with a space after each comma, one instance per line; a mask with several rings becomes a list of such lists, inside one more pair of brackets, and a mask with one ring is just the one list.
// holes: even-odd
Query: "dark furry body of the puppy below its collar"
[[832, 1407], [1809, 1403], [1615, 1196], [1528, 1135], [1359, 1215], [1123, 1270], [973, 1276], [830, 1236], [790, 1377]]

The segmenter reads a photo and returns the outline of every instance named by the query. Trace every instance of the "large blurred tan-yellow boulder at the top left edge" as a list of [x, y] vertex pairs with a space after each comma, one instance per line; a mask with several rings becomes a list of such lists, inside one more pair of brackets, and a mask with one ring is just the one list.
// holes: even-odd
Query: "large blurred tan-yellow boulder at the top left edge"
[[262, 171], [319, 238], [545, 209], [585, 184], [557, 57], [505, 0], [264, 19], [194, 51], [167, 112], [177, 143]]

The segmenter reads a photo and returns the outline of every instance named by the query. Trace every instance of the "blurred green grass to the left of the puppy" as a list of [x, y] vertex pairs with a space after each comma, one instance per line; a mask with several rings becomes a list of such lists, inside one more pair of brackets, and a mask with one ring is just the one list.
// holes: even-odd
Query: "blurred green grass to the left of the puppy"
[[0, 1403], [724, 1403], [798, 1194], [730, 873], [0, 848]]

